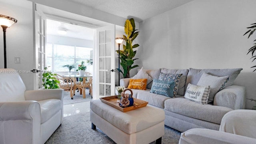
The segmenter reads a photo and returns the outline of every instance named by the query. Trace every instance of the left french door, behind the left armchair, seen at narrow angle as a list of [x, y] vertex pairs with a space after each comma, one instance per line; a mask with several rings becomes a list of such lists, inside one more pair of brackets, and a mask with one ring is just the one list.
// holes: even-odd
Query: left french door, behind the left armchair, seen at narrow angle
[[34, 90], [42, 88], [42, 70], [46, 67], [46, 16], [33, 2]]

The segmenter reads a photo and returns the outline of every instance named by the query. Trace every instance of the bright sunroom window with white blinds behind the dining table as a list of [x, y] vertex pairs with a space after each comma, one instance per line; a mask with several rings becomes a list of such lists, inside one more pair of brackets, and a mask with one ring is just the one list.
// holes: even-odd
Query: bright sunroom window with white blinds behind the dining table
[[[82, 61], [91, 60], [92, 48], [80, 46], [70, 46], [63, 44], [47, 43], [46, 45], [46, 66], [50, 66], [48, 70], [52, 72], [66, 72], [68, 68], [62, 68], [64, 65], [74, 64], [77, 66]], [[76, 68], [72, 69], [75, 71]]]

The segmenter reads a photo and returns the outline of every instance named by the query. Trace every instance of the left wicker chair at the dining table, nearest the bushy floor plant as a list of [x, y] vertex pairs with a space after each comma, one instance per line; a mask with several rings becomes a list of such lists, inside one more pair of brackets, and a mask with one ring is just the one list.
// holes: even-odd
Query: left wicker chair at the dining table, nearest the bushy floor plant
[[75, 93], [73, 93], [73, 88], [74, 88], [74, 82], [71, 80], [71, 78], [68, 77], [63, 77], [57, 74], [56, 76], [57, 80], [60, 81], [59, 86], [61, 89], [70, 91], [70, 97], [73, 99], [73, 96]]

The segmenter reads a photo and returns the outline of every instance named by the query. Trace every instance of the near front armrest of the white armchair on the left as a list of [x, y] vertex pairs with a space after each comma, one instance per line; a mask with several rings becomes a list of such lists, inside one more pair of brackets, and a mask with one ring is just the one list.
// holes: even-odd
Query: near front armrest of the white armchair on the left
[[0, 102], [0, 144], [38, 144], [40, 126], [38, 102]]

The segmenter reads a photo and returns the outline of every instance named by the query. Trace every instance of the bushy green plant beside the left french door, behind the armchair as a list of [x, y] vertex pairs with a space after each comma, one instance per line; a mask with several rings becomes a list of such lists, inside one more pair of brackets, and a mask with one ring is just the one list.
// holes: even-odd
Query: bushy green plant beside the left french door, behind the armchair
[[[48, 66], [50, 67], [50, 66]], [[57, 78], [55, 78], [55, 76], [57, 76], [57, 74], [52, 73], [51, 71], [48, 71], [47, 68], [44, 68], [44, 72], [42, 74], [43, 78], [43, 86], [44, 89], [56, 89], [56, 88], [60, 88], [58, 86], [58, 84], [60, 83], [60, 81], [57, 80]]]

